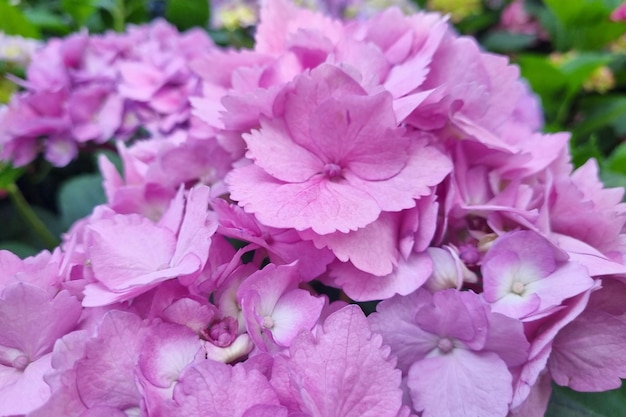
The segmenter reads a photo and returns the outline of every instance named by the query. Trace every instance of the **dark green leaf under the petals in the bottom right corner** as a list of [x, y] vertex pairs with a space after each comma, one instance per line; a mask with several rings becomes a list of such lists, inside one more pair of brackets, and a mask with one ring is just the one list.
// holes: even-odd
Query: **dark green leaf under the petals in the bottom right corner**
[[626, 388], [605, 392], [576, 392], [553, 386], [545, 417], [618, 417], [626, 410]]

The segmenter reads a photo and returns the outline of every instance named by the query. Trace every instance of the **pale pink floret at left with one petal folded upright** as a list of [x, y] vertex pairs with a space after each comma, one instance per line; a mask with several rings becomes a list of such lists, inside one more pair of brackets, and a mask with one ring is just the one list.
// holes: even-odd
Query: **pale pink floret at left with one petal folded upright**
[[[89, 262], [95, 283], [85, 288], [83, 305], [99, 306], [131, 299], [158, 283], [199, 274], [208, 257], [217, 224], [208, 213], [208, 187], [191, 190], [185, 214], [165, 216], [174, 229], [139, 215], [119, 215], [89, 226]], [[182, 210], [182, 195], [178, 205]], [[172, 220], [170, 220], [172, 219]], [[120, 243], [121, 242], [121, 243]]]

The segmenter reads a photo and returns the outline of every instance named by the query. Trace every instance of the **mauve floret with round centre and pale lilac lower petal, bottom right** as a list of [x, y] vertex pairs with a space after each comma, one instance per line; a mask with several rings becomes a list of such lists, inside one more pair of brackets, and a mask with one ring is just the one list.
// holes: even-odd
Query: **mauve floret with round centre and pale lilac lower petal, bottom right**
[[396, 296], [369, 320], [398, 356], [421, 415], [506, 415], [509, 368], [522, 364], [528, 351], [520, 322], [490, 312], [474, 293], [452, 289]]

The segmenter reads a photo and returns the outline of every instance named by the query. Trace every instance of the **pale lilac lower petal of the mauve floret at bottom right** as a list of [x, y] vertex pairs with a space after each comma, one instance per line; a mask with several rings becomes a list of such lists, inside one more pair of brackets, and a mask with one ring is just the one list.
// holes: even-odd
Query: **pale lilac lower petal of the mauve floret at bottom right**
[[407, 383], [422, 417], [503, 417], [513, 392], [502, 359], [464, 349], [416, 362]]

